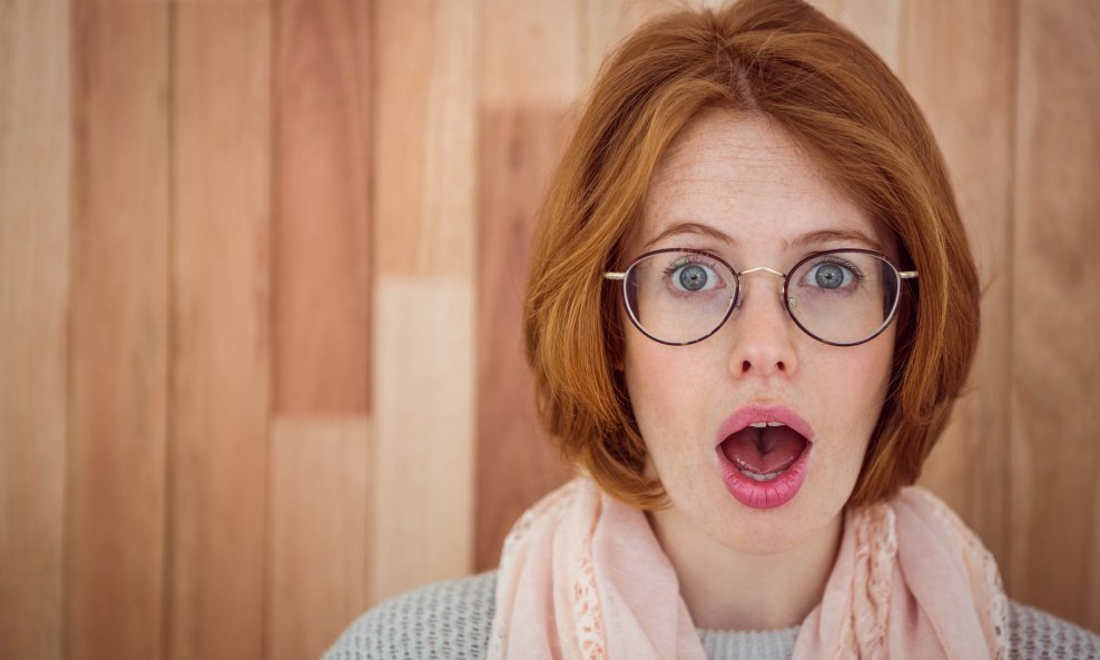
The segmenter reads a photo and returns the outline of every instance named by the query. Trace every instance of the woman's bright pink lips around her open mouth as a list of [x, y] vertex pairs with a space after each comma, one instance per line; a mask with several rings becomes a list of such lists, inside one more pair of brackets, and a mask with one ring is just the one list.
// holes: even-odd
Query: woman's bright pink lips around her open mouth
[[[740, 473], [721, 451], [721, 443], [727, 437], [755, 422], [779, 422], [797, 431], [807, 441], [798, 459], [790, 467], [772, 481], [756, 481]], [[750, 405], [730, 415], [718, 427], [718, 440], [715, 445], [715, 456], [721, 481], [738, 502], [753, 509], [774, 509], [789, 502], [806, 480], [809, 466], [809, 452], [813, 447], [814, 430], [794, 411], [784, 406]]]

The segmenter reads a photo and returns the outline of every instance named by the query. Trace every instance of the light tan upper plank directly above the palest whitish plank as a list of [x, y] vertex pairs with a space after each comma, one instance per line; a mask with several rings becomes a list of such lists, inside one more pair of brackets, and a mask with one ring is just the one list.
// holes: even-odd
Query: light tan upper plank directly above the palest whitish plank
[[373, 119], [376, 272], [469, 282], [477, 237], [473, 0], [382, 0], [375, 17], [376, 93], [384, 99]]

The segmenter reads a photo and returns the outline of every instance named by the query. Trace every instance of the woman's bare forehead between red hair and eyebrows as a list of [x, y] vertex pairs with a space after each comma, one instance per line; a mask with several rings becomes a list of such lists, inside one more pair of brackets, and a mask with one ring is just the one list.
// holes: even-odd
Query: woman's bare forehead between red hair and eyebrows
[[662, 156], [638, 247], [681, 223], [713, 227], [752, 252], [773, 253], [833, 229], [878, 238], [867, 215], [825, 180], [782, 128], [760, 115], [721, 109], [695, 118]]

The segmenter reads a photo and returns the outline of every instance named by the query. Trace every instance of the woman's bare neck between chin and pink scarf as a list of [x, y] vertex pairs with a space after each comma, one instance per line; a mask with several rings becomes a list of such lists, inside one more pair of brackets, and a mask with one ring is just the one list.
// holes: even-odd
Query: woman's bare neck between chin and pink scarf
[[737, 552], [675, 510], [646, 514], [680, 582], [696, 628], [777, 630], [798, 625], [822, 601], [839, 549], [842, 515], [783, 552]]

